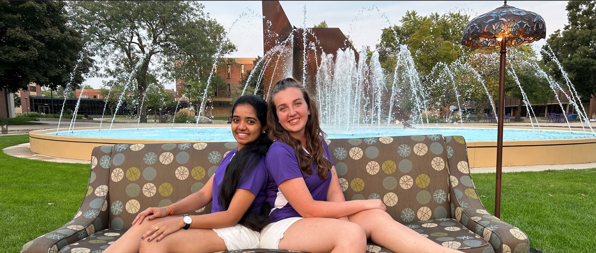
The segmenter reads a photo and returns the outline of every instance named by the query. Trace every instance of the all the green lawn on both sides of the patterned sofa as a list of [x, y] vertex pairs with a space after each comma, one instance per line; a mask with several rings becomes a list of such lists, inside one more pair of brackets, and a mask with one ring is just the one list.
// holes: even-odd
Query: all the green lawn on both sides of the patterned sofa
[[[0, 136], [0, 149], [29, 142]], [[89, 165], [15, 158], [0, 152], [0, 252], [19, 252], [75, 215], [86, 191]], [[474, 174], [478, 195], [494, 210], [495, 174]], [[596, 168], [504, 173], [501, 218], [524, 230], [530, 246], [546, 252], [596, 248]], [[53, 203], [49, 205], [48, 203]]]

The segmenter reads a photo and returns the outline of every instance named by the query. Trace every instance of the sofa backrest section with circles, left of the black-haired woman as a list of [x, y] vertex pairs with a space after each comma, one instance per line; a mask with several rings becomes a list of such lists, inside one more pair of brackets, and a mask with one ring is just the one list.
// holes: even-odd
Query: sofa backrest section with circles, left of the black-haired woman
[[[129, 229], [138, 213], [197, 192], [236, 142], [117, 144], [111, 153], [110, 227]], [[191, 212], [207, 214], [211, 204]]]

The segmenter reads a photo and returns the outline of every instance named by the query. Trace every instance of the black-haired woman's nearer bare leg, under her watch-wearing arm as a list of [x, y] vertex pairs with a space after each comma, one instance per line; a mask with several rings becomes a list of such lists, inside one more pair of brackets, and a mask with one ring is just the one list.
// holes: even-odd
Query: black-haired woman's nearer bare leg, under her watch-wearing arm
[[178, 230], [163, 239], [143, 240], [140, 252], [193, 252], [209, 253], [225, 251], [227, 248], [223, 239], [212, 229]]

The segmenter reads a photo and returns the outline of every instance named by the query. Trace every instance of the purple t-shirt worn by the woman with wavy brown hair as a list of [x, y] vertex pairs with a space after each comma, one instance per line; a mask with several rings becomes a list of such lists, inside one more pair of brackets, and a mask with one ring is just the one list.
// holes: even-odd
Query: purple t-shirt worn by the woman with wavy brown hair
[[[323, 148], [325, 149], [323, 156], [331, 161], [331, 165], [333, 165], [331, 153], [325, 141], [323, 141]], [[302, 171], [300, 171], [298, 156], [291, 146], [276, 140], [269, 147], [269, 152], [265, 157], [265, 164], [269, 173], [265, 202], [272, 207], [272, 211], [269, 214], [272, 222], [280, 221], [284, 218], [301, 217], [290, 203], [288, 203], [278, 187], [285, 180], [302, 177], [315, 201], [327, 201], [327, 190], [331, 182], [331, 175], [327, 179], [321, 179], [317, 173], [318, 170], [315, 163], [312, 164], [313, 173], [303, 175]]]

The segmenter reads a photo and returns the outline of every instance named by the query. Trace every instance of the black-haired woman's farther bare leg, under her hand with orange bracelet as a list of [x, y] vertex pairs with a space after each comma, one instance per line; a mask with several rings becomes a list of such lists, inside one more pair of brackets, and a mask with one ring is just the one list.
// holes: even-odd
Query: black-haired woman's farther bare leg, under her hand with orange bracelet
[[143, 220], [141, 224], [132, 225], [132, 227], [124, 233], [116, 242], [112, 243], [103, 253], [138, 253], [141, 245], [141, 236], [147, 232], [153, 224], [169, 220], [171, 218], [179, 218], [178, 216], [166, 216], [162, 218], [155, 218], [153, 220]]

